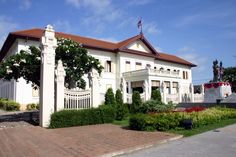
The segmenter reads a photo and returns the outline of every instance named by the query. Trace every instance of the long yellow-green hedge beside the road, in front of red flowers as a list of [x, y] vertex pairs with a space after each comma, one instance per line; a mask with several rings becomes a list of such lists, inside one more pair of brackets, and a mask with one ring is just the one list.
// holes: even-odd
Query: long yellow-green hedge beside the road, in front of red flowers
[[190, 119], [193, 127], [217, 123], [220, 120], [236, 118], [236, 109], [210, 108], [201, 112], [172, 112], [159, 114], [135, 114], [130, 117], [129, 125], [133, 130], [166, 131], [184, 127], [183, 121]]

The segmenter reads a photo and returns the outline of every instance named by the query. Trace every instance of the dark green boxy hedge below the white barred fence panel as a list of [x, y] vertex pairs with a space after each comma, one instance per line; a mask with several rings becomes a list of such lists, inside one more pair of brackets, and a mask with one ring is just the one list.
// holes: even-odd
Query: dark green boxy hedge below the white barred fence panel
[[111, 106], [84, 110], [62, 110], [51, 115], [50, 128], [63, 128], [92, 124], [111, 123], [115, 119], [115, 110]]

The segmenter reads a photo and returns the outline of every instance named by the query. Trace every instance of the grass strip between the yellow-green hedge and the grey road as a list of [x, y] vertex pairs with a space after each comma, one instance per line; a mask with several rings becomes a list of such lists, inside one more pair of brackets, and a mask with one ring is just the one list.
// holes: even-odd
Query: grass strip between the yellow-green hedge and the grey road
[[235, 124], [235, 123], [236, 123], [236, 118], [225, 119], [225, 120], [221, 120], [219, 123], [209, 124], [209, 125], [193, 128], [191, 130], [185, 130], [183, 128], [176, 128], [173, 130], [169, 130], [167, 132], [174, 133], [174, 134], [180, 134], [180, 135], [183, 135], [184, 137], [188, 137], [188, 136], [193, 136], [193, 135], [200, 134], [200, 133], [203, 133], [206, 131], [214, 130], [217, 128], [222, 128], [224, 126], [227, 126], [230, 124]]

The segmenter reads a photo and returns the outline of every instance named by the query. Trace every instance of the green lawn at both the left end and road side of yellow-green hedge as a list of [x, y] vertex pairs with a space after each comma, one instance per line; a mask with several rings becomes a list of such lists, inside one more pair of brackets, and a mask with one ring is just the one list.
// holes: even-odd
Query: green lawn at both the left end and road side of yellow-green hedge
[[[219, 123], [210, 124], [210, 125], [202, 126], [202, 127], [198, 127], [198, 128], [193, 128], [191, 130], [185, 130], [183, 128], [178, 128], [175, 130], [169, 130], [167, 132], [174, 133], [174, 134], [180, 134], [180, 135], [184, 135], [184, 137], [188, 137], [188, 136], [200, 134], [200, 133], [203, 133], [206, 131], [214, 130], [217, 128], [222, 128], [224, 126], [227, 126], [230, 124], [235, 124], [235, 123], [236, 123], [236, 119], [226, 119], [226, 120], [220, 121]], [[125, 118], [122, 121], [115, 120], [113, 122], [113, 124], [120, 125], [122, 127], [128, 127], [129, 126], [129, 117]]]

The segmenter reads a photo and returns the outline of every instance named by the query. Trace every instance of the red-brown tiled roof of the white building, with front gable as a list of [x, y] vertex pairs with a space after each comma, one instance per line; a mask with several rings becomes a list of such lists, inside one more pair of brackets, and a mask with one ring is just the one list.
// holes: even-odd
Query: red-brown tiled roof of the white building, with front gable
[[[28, 29], [28, 30], [22, 30], [22, 31], [9, 33], [0, 52], [0, 61], [4, 58], [4, 56], [6, 55], [6, 53], [8, 52], [8, 50], [10, 49], [10, 47], [12, 46], [12, 44], [17, 38], [39, 41], [43, 35], [43, 31], [44, 31], [43, 29], [34, 28], [34, 29]], [[164, 61], [183, 64], [183, 65], [187, 65], [191, 67], [196, 66], [195, 64], [192, 64], [177, 56], [157, 52], [152, 47], [152, 45], [146, 40], [143, 34], [136, 35], [134, 37], [131, 37], [129, 39], [126, 39], [118, 43], [113, 43], [113, 42], [108, 42], [108, 41], [103, 41], [103, 40], [98, 40], [98, 39], [93, 39], [93, 38], [87, 38], [87, 37], [82, 37], [78, 35], [66, 34], [62, 32], [56, 32], [56, 37], [69, 38], [75, 42], [81, 43], [83, 47], [85, 48], [104, 50], [104, 51], [109, 51], [113, 53], [117, 53], [121, 51], [121, 52], [126, 52], [126, 53], [131, 53], [131, 54], [153, 57], [156, 60], [164, 60]], [[151, 50], [151, 53], [143, 53], [140, 51], [130, 50], [126, 48], [129, 44], [133, 43], [136, 40], [141, 40]]]

